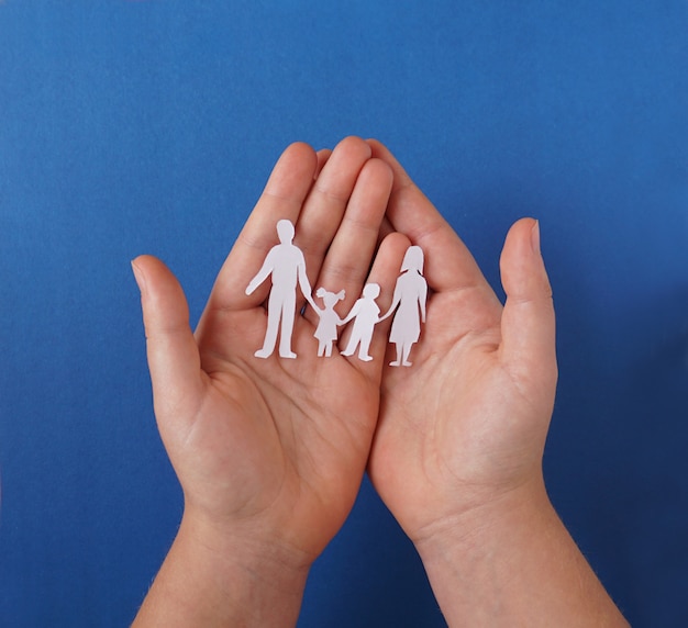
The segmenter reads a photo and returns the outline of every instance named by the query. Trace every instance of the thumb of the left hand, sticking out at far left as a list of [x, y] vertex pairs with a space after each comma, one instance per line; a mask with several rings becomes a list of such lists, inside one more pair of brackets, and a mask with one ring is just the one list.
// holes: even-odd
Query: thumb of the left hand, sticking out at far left
[[152, 256], [132, 261], [141, 290], [148, 369], [158, 425], [185, 428], [202, 399], [200, 356], [189, 327], [189, 306], [170, 270]]

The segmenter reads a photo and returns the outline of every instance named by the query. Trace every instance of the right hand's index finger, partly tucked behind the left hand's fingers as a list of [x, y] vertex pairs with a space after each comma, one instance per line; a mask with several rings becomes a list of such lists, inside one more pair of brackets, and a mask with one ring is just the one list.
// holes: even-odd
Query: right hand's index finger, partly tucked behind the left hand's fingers
[[368, 139], [373, 156], [392, 169], [387, 216], [392, 227], [425, 251], [425, 278], [435, 292], [487, 287], [473, 255], [387, 147]]

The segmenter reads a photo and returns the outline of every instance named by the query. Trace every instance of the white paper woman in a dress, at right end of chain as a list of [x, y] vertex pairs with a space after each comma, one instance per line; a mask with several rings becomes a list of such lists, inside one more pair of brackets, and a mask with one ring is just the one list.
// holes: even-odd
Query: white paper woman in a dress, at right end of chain
[[391, 305], [380, 318], [384, 321], [399, 307], [389, 333], [389, 341], [397, 345], [397, 359], [389, 363], [390, 367], [411, 366], [409, 354], [421, 335], [421, 323], [425, 323], [428, 283], [422, 274], [423, 261], [423, 249], [420, 246], [410, 246], [407, 249]]

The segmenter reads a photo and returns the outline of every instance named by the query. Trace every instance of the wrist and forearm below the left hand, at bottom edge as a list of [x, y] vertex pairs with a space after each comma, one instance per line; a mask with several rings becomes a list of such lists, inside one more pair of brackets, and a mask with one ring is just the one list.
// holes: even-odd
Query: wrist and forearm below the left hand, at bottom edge
[[187, 508], [133, 626], [296, 626], [309, 565]]

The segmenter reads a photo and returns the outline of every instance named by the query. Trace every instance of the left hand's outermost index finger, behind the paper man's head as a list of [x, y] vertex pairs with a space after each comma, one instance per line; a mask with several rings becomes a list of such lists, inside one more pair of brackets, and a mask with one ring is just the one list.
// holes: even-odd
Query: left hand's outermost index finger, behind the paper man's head
[[[324, 155], [323, 155], [324, 160]], [[251, 279], [260, 268], [269, 250], [278, 244], [277, 222], [281, 218], [296, 224], [313, 180], [320, 157], [307, 144], [291, 144], [281, 154], [255, 209], [246, 221], [232, 251], [226, 258], [215, 285], [209, 309], [245, 310], [265, 301], [268, 282], [251, 295], [245, 294]]]

